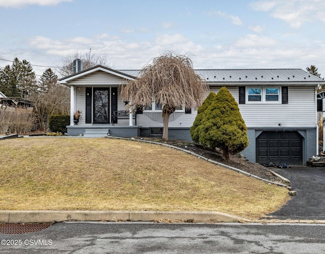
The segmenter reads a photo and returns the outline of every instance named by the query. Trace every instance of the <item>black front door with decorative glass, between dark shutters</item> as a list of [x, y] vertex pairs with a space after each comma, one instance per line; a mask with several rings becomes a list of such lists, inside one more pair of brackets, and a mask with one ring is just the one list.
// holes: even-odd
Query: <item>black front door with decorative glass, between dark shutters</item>
[[93, 123], [110, 122], [110, 90], [108, 88], [93, 89]]

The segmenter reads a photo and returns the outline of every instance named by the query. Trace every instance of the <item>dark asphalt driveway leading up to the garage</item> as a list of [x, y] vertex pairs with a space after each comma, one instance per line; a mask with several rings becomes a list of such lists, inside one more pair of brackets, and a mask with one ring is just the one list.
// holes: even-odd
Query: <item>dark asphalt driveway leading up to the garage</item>
[[272, 169], [290, 180], [297, 196], [280, 210], [268, 214], [276, 219], [325, 219], [325, 168]]

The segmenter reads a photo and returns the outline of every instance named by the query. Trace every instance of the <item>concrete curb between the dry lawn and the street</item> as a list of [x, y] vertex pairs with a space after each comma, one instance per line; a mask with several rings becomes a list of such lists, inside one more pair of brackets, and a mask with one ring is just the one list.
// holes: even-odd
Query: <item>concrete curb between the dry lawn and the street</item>
[[251, 220], [222, 212], [199, 211], [0, 211], [0, 223], [55, 223], [59, 221], [193, 221], [249, 223]]

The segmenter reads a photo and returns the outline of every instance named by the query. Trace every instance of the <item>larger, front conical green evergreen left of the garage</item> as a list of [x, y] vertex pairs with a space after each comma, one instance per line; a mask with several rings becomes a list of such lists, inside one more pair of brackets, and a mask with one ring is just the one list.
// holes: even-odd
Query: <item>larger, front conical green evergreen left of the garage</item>
[[248, 146], [247, 127], [232, 94], [221, 87], [212, 104], [205, 110], [200, 125], [199, 141], [211, 149], [221, 148], [223, 158]]

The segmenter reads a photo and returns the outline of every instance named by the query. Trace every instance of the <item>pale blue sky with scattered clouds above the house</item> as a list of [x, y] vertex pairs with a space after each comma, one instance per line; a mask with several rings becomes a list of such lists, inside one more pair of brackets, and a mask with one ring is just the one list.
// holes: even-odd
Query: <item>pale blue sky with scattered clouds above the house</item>
[[323, 0], [0, 0], [0, 67], [18, 57], [38, 75], [91, 48], [113, 69], [170, 50], [195, 69], [315, 65], [324, 77], [324, 36]]

